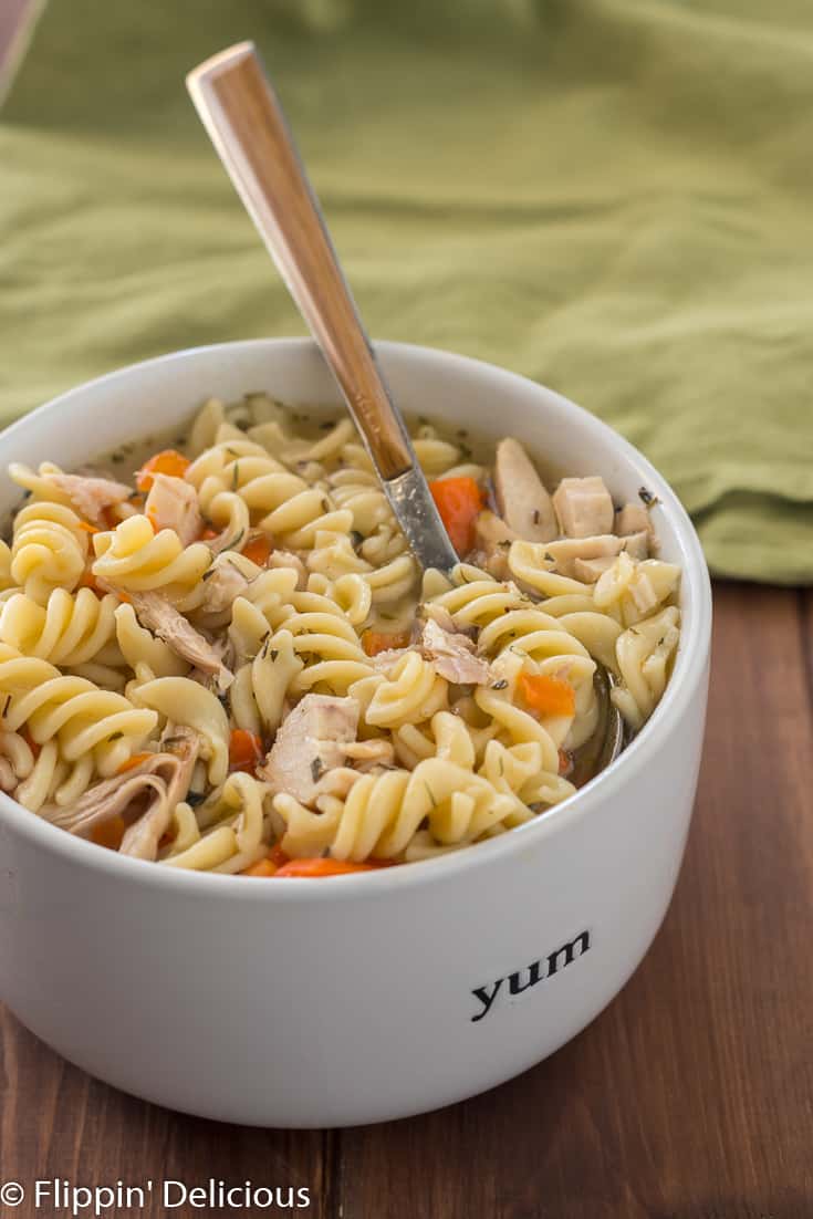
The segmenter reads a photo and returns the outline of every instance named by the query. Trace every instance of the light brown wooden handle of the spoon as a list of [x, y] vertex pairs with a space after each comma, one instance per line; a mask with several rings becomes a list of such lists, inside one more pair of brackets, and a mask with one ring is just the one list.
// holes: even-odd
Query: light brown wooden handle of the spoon
[[300, 312], [322, 347], [384, 479], [411, 445], [339, 267], [285, 116], [251, 43], [186, 77], [197, 112]]

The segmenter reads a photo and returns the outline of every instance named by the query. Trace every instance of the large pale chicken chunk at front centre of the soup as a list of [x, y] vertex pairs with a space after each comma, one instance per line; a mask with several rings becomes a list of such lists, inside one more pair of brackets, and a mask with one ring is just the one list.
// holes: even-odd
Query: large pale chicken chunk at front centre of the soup
[[310, 803], [322, 775], [340, 767], [346, 746], [356, 741], [360, 712], [357, 698], [306, 694], [279, 725], [257, 774], [274, 791]]

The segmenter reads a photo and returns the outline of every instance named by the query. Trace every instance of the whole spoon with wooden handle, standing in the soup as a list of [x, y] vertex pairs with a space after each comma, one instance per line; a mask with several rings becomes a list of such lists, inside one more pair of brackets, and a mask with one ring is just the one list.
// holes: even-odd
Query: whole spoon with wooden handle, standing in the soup
[[[423, 568], [449, 573], [449, 540], [333, 247], [318, 200], [254, 43], [194, 68], [186, 88], [228, 176], [318, 343], [410, 547]], [[586, 778], [623, 746], [622, 717], [598, 667], [600, 725], [578, 761]]]

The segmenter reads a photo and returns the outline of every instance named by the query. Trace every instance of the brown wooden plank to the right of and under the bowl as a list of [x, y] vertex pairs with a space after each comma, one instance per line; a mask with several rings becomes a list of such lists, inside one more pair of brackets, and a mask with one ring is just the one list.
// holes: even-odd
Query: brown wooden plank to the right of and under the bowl
[[813, 1214], [813, 714], [800, 600], [718, 586], [715, 612], [696, 818], [644, 965], [520, 1079], [345, 1134], [345, 1215]]

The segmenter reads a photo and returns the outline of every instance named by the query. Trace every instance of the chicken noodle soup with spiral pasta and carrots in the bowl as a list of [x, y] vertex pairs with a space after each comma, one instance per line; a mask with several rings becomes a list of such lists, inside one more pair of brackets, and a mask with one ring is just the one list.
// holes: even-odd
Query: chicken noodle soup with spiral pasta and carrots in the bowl
[[264, 395], [80, 473], [13, 464], [0, 786], [123, 855], [277, 878], [456, 851], [570, 796], [607, 691], [631, 735], [678, 645], [651, 496], [549, 489], [513, 438], [413, 435], [451, 578], [419, 570], [349, 418]]

